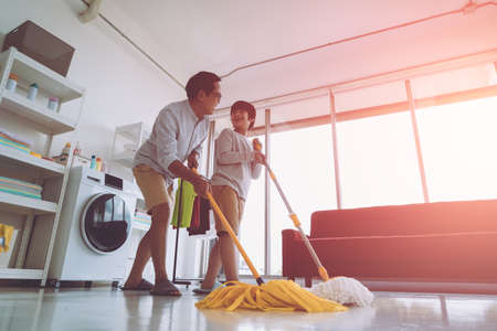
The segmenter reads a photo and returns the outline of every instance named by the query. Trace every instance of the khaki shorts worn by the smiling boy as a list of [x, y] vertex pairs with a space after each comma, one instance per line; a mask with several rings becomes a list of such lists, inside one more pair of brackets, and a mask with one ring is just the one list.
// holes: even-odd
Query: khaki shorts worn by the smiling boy
[[[239, 234], [240, 222], [242, 221], [243, 207], [245, 203], [239, 197], [236, 191], [228, 185], [212, 186], [212, 196], [219, 204], [219, 207], [226, 217], [228, 222], [233, 228], [235, 234]], [[226, 232], [226, 228], [222, 224], [221, 220], [215, 215], [215, 231], [218, 234], [221, 232]]]

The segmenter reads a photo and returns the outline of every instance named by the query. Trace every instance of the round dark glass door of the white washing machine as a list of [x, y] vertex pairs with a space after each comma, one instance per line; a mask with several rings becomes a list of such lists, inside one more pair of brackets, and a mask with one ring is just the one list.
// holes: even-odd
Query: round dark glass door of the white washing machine
[[101, 193], [92, 196], [81, 216], [81, 233], [86, 245], [99, 254], [119, 249], [131, 233], [131, 213], [118, 195]]

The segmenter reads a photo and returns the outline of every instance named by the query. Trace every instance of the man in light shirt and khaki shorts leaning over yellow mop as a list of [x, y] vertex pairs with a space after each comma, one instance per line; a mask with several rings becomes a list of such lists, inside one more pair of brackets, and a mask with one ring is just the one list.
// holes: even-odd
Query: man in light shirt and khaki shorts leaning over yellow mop
[[[200, 72], [187, 83], [188, 99], [166, 106], [157, 116], [150, 138], [137, 151], [133, 174], [151, 214], [150, 229], [142, 237], [124, 290], [150, 290], [152, 295], [181, 296], [166, 273], [167, 229], [172, 207], [175, 178], [191, 182], [205, 196], [209, 181], [195, 174], [198, 157], [209, 130], [209, 118], [221, 99], [220, 77]], [[183, 162], [188, 160], [188, 168]], [[142, 279], [152, 258], [155, 285]]]

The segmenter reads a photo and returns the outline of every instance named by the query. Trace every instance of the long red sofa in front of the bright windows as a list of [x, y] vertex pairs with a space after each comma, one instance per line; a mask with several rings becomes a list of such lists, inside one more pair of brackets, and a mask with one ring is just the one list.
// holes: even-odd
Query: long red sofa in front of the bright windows
[[[298, 232], [282, 235], [283, 276], [310, 286], [318, 273]], [[497, 200], [319, 211], [308, 237], [330, 276], [372, 290], [497, 291]]]

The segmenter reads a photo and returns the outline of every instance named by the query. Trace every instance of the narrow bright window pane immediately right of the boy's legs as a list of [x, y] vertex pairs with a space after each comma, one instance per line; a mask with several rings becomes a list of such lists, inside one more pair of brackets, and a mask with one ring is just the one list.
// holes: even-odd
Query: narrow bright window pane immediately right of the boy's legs
[[[264, 136], [251, 137], [264, 141]], [[264, 171], [256, 180], [252, 180], [245, 201], [240, 242], [260, 274], [264, 274]], [[240, 256], [240, 275], [252, 275], [247, 265]]]

